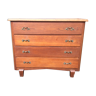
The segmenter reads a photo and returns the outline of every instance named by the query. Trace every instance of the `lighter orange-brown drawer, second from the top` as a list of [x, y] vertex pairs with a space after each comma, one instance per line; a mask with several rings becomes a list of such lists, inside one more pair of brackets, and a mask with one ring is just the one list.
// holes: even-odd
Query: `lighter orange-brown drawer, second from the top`
[[81, 38], [81, 35], [14, 35], [14, 43], [16, 46], [80, 46]]

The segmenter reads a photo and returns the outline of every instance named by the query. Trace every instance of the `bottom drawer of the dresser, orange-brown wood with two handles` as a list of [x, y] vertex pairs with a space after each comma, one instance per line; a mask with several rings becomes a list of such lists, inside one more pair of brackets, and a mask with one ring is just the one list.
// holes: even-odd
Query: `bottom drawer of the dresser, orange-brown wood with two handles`
[[16, 67], [78, 68], [78, 64], [79, 58], [16, 57]]

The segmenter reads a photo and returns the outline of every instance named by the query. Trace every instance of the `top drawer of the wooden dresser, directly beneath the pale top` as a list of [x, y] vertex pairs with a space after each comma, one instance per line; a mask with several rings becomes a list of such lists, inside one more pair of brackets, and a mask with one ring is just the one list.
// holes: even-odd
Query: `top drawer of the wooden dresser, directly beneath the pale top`
[[13, 34], [82, 34], [84, 27], [83, 22], [11, 22]]

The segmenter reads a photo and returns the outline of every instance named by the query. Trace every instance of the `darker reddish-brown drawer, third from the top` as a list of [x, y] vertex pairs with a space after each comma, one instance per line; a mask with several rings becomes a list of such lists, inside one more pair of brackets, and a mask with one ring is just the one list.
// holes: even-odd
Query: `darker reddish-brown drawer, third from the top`
[[20, 47], [20, 46], [18, 47], [18, 46], [15, 46], [14, 50], [15, 50], [16, 57], [68, 57], [68, 58], [80, 57], [80, 47]]

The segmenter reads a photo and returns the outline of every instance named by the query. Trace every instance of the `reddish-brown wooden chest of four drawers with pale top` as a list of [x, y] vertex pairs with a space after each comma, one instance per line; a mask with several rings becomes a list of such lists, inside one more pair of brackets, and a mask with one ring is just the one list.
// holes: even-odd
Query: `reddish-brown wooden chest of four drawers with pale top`
[[81, 73], [87, 23], [86, 17], [8, 17], [10, 21], [13, 70], [24, 72]]

